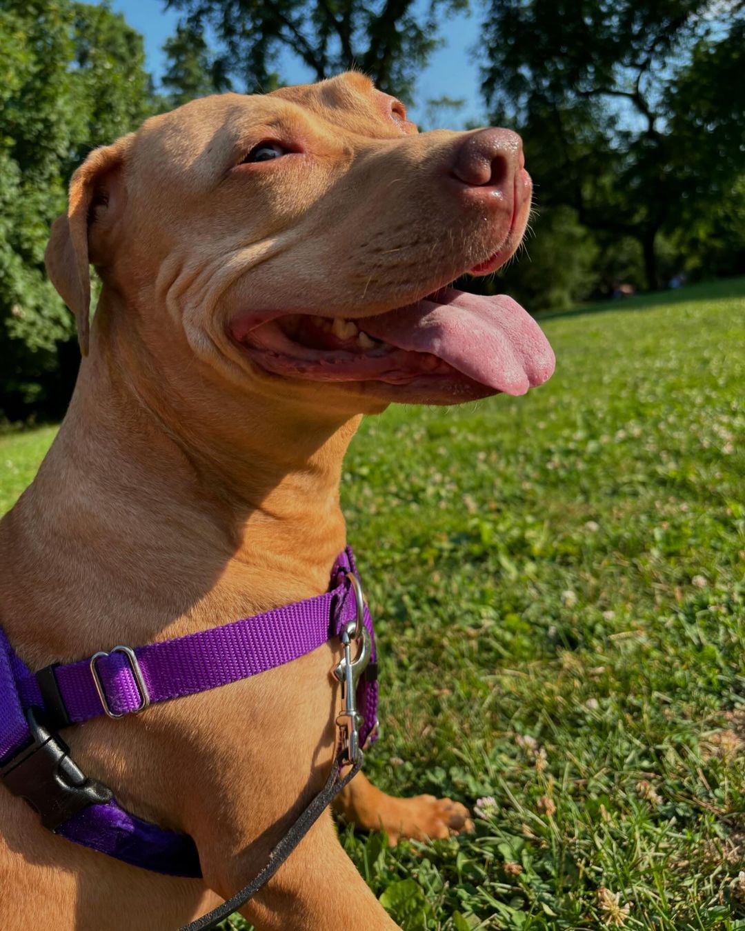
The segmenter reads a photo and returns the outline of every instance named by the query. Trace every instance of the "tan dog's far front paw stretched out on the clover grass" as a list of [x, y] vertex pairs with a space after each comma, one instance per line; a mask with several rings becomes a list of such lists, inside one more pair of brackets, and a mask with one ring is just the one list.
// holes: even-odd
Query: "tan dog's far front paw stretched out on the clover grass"
[[334, 808], [363, 830], [385, 830], [391, 844], [402, 837], [436, 840], [473, 830], [468, 810], [461, 803], [434, 795], [398, 799], [376, 789], [364, 773], [355, 776], [337, 796]]

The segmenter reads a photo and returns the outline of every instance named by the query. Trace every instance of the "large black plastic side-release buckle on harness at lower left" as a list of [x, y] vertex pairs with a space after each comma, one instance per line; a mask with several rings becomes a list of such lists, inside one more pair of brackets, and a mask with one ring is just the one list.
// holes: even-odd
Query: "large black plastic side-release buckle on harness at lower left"
[[40, 722], [41, 714], [39, 708], [26, 711], [34, 742], [0, 766], [0, 780], [36, 809], [45, 828], [55, 831], [88, 805], [109, 802], [113, 793], [84, 776], [67, 744]]

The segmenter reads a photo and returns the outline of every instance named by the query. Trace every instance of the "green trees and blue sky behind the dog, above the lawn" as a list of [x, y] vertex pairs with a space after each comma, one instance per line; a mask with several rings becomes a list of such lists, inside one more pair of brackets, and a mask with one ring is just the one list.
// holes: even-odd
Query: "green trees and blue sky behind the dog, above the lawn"
[[59, 419], [74, 384], [72, 317], [43, 270], [74, 168], [216, 90], [354, 66], [422, 128], [519, 129], [532, 235], [522, 261], [464, 286], [532, 313], [745, 274], [743, 6], [0, 0], [0, 420]]

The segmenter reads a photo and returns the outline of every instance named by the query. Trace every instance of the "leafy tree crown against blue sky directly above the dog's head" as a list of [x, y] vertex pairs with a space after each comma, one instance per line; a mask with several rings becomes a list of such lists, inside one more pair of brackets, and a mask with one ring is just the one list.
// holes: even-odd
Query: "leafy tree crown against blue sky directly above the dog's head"
[[382, 90], [411, 97], [416, 75], [439, 45], [443, 16], [467, 0], [168, 0], [183, 10], [186, 25], [217, 35], [223, 74], [248, 92], [271, 89], [278, 53], [289, 49], [314, 80], [348, 68], [370, 74]]

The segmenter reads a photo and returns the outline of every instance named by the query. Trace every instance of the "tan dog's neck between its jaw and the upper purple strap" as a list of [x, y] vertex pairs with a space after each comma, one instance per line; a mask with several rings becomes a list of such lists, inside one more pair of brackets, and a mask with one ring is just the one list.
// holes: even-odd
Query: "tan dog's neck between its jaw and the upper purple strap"
[[132, 371], [151, 363], [100, 345], [0, 529], [0, 623], [14, 641], [25, 624], [23, 642], [26, 619], [43, 619], [27, 658], [178, 636], [325, 590], [359, 417], [248, 397], [241, 412], [235, 398], [195, 409], [170, 397], [169, 372]]

